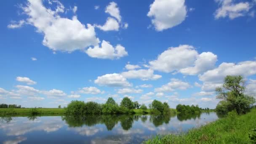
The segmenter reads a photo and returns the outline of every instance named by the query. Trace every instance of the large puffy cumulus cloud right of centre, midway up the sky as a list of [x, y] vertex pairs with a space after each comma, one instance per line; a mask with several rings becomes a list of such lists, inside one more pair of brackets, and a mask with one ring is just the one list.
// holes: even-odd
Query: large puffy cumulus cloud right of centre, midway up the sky
[[198, 54], [191, 45], [171, 47], [161, 53], [156, 60], [149, 61], [152, 69], [161, 72], [181, 72], [185, 75], [197, 75], [213, 69], [217, 56], [211, 52]]

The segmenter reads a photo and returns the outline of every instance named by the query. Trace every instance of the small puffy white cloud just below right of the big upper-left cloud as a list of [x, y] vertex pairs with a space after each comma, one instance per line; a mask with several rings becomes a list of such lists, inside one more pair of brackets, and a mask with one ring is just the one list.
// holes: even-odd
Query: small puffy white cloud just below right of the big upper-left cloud
[[127, 56], [128, 53], [122, 45], [117, 45], [115, 48], [107, 41], [103, 40], [101, 48], [99, 45], [94, 48], [88, 48], [85, 51], [89, 56], [99, 59], [119, 59], [120, 57]]

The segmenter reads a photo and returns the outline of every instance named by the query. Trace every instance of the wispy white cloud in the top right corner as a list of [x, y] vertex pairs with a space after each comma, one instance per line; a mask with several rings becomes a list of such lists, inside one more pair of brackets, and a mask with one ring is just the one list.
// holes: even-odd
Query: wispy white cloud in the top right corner
[[235, 19], [248, 14], [251, 5], [248, 2], [234, 3], [235, 0], [215, 0], [220, 7], [215, 11], [215, 19], [229, 17]]

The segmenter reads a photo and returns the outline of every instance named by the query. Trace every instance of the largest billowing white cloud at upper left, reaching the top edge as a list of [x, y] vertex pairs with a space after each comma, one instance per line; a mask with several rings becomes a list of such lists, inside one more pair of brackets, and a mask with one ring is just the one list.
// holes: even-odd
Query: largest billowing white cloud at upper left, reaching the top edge
[[28, 16], [26, 23], [37, 28], [37, 32], [44, 35], [43, 45], [53, 51], [72, 52], [84, 50], [91, 45], [98, 45], [94, 27], [87, 24], [85, 27], [76, 16], [72, 19], [63, 18], [65, 7], [57, 0], [55, 11], [45, 8], [41, 0], [28, 0], [22, 7], [23, 13]]

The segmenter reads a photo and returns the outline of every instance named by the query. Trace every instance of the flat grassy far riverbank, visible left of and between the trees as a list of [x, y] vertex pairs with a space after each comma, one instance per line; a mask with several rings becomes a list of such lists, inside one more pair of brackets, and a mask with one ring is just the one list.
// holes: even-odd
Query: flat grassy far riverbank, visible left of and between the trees
[[[0, 108], [0, 115], [30, 115], [35, 108]], [[64, 115], [65, 109], [59, 108], [36, 108], [40, 115]], [[135, 114], [151, 114], [151, 110], [133, 109]], [[171, 114], [176, 114], [176, 109], [170, 109]]]

